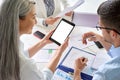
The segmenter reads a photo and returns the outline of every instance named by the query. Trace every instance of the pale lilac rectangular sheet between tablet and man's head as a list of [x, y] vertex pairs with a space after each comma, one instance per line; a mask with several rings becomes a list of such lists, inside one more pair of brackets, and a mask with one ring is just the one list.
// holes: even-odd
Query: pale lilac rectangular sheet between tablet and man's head
[[74, 12], [73, 23], [76, 26], [95, 27], [98, 24], [98, 15]]

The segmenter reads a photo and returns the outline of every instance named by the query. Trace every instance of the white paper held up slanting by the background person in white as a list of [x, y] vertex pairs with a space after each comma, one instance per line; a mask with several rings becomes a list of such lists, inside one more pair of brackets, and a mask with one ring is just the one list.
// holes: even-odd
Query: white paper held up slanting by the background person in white
[[57, 17], [63, 16], [65, 13], [68, 13], [70, 11], [73, 11], [75, 8], [79, 7], [81, 4], [84, 3], [84, 0], [78, 0], [72, 7], [68, 7], [64, 9], [61, 13], [57, 15]]

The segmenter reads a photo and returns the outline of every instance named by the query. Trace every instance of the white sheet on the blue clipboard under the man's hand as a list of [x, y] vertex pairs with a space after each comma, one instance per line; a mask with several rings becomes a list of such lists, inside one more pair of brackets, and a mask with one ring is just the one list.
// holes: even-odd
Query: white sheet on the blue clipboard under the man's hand
[[86, 73], [86, 74], [89, 74], [89, 75], [92, 75], [91, 66], [92, 66], [92, 63], [95, 59], [95, 55], [91, 54], [91, 53], [88, 53], [86, 51], [82, 51], [78, 48], [73, 47], [70, 50], [67, 57], [63, 61], [62, 65], [66, 66], [68, 68], [74, 69], [75, 60], [79, 57], [85, 57], [85, 58], [88, 59], [87, 66], [83, 69], [82, 72]]

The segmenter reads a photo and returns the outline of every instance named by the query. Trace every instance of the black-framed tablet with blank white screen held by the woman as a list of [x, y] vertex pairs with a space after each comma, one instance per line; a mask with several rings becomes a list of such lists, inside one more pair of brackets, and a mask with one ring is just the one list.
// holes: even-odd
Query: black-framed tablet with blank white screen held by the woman
[[51, 35], [50, 40], [60, 46], [62, 43], [64, 43], [65, 39], [70, 35], [74, 27], [75, 27], [74, 23], [66, 19], [61, 19], [55, 31]]

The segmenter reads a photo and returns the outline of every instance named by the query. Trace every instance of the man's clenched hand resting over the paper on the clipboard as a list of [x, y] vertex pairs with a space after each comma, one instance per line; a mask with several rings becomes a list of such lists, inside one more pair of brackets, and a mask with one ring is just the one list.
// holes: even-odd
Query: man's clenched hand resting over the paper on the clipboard
[[79, 70], [80, 72], [84, 69], [86, 66], [88, 59], [84, 57], [80, 57], [75, 60], [75, 70]]

